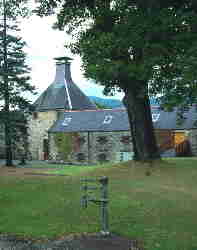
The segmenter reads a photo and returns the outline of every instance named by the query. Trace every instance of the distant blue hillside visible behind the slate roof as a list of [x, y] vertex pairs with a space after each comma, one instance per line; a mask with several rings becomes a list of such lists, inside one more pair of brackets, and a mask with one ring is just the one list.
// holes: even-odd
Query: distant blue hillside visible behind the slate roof
[[[98, 103], [106, 108], [124, 108], [123, 103], [118, 99], [105, 99], [97, 96], [89, 96], [90, 100], [94, 103]], [[155, 98], [150, 99], [151, 105], [158, 105], [158, 102]]]

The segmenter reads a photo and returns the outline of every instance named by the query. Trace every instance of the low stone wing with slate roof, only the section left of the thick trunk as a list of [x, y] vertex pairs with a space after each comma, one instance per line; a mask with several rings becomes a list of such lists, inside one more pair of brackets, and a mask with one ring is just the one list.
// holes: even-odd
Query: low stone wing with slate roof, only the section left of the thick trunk
[[49, 136], [52, 159], [89, 163], [132, 159], [124, 109], [65, 111], [50, 128]]

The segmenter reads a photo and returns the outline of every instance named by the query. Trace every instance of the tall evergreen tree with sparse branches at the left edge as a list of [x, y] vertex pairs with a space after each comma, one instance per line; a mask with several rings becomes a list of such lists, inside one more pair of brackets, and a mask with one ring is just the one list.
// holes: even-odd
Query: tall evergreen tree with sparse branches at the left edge
[[[27, 14], [25, 1], [1, 0], [0, 14], [0, 100], [2, 103], [0, 120], [5, 129], [6, 166], [12, 166], [13, 146], [18, 136], [16, 135], [17, 119], [13, 117], [13, 111], [28, 109], [30, 103], [24, 97], [24, 93], [33, 93], [35, 88], [29, 83], [29, 68], [23, 51], [25, 43], [18, 35], [17, 18]], [[24, 131], [26, 124], [23, 124]]]

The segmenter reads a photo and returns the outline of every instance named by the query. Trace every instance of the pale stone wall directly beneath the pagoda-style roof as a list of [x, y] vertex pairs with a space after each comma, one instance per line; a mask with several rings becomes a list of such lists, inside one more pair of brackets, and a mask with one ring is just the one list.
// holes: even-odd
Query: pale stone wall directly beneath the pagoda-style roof
[[44, 160], [43, 140], [48, 139], [48, 129], [57, 120], [57, 111], [35, 112], [29, 118], [29, 151], [32, 160]]

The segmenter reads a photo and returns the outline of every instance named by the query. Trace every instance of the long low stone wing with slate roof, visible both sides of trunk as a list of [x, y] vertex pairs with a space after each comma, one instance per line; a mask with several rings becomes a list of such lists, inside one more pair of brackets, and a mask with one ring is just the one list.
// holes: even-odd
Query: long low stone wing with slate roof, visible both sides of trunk
[[[177, 124], [177, 111], [164, 112], [152, 107], [152, 119], [160, 153], [165, 157], [197, 156], [197, 129], [195, 107]], [[53, 159], [63, 159], [58, 154], [57, 135], [70, 135], [66, 155], [72, 162], [124, 161], [132, 159], [132, 138], [125, 109], [85, 110], [62, 113], [49, 130]], [[61, 138], [59, 138], [61, 142]]]

